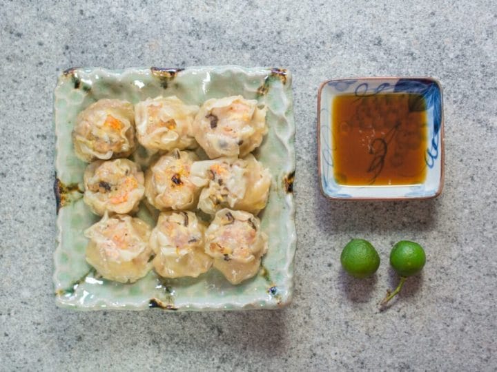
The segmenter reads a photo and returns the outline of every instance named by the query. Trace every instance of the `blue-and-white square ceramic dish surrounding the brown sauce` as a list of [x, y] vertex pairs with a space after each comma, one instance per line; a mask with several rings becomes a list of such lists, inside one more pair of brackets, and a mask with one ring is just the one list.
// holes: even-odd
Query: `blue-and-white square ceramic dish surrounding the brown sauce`
[[[347, 186], [333, 175], [333, 98], [354, 94], [360, 99], [380, 93], [420, 94], [427, 111], [428, 141], [425, 150], [427, 176], [424, 183], [401, 186]], [[419, 110], [419, 107], [418, 109]], [[324, 196], [339, 200], [390, 200], [434, 198], [442, 192], [444, 174], [442, 89], [435, 79], [378, 77], [324, 81], [318, 92], [318, 169]]]

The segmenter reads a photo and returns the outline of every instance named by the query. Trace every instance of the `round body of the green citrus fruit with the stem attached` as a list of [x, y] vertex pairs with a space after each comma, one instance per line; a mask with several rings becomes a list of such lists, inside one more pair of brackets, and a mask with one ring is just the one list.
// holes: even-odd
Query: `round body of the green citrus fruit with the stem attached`
[[400, 240], [390, 252], [390, 265], [400, 276], [416, 275], [425, 262], [425, 250], [417, 242]]

